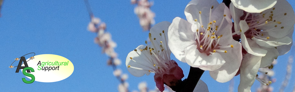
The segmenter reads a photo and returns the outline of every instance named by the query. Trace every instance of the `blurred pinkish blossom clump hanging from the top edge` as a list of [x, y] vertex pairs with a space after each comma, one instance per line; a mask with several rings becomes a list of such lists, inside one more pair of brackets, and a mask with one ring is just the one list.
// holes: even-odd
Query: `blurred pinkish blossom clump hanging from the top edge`
[[134, 13], [138, 16], [142, 29], [150, 30], [151, 25], [155, 24], [155, 13], [150, 10], [150, 6], [153, 3], [148, 2], [148, 0], [131, 0], [131, 4], [137, 4], [134, 8]]

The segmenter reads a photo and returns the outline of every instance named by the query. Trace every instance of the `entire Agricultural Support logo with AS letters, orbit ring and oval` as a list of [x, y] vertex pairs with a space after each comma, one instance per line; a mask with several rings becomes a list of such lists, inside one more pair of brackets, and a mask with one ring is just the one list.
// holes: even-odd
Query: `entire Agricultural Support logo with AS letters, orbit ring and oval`
[[15, 61], [11, 64], [11, 66], [9, 66], [9, 68], [17, 67], [16, 73], [21, 70], [27, 78], [31, 79], [30, 81], [27, 81], [25, 78], [22, 78], [24, 83], [33, 83], [34, 81], [61, 81], [71, 76], [74, 71], [73, 63], [62, 56], [53, 54], [42, 54], [35, 56], [34, 53], [34, 56], [28, 58], [27, 60], [24, 56], [14, 59], [15, 61], [20, 60], [18, 66], [12, 66]]

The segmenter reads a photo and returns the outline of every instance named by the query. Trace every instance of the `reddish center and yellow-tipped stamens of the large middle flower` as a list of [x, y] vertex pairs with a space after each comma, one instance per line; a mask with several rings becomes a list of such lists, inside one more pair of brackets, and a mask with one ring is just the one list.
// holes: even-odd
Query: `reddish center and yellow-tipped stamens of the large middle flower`
[[[201, 18], [201, 11], [199, 11], [199, 20], [201, 27], [199, 27], [196, 30], [196, 45], [197, 49], [201, 53], [205, 53], [207, 55], [214, 54], [216, 51], [217, 52], [223, 52], [227, 53], [226, 50], [221, 50], [222, 48], [233, 48], [233, 45], [228, 45], [228, 46], [221, 46], [219, 45], [219, 40], [222, 38], [222, 35], [216, 34], [218, 30], [220, 30], [224, 18], [226, 15], [223, 15], [222, 21], [219, 25], [216, 24], [216, 20], [212, 21], [211, 20], [211, 12], [212, 12], [213, 6], [210, 9], [210, 14], [209, 14], [209, 23], [207, 24], [207, 27], [204, 27], [202, 24], [202, 18]], [[195, 24], [198, 24], [198, 20], [195, 19]]]

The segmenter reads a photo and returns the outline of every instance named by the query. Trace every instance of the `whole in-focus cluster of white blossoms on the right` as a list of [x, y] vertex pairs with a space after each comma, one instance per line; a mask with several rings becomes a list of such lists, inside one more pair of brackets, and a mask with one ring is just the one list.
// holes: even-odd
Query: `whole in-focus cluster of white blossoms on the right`
[[[144, 0], [145, 1], [145, 0]], [[140, 45], [126, 58], [133, 76], [155, 73], [156, 86], [176, 86], [183, 71], [170, 54], [191, 67], [209, 71], [221, 83], [240, 75], [239, 92], [249, 92], [260, 70], [271, 69], [278, 56], [292, 46], [295, 15], [286, 0], [192, 0], [185, 19], [160, 22], [150, 29], [150, 44]], [[232, 21], [233, 20], [233, 21]], [[198, 83], [199, 84], [199, 83]], [[200, 88], [199, 90], [206, 89]]]

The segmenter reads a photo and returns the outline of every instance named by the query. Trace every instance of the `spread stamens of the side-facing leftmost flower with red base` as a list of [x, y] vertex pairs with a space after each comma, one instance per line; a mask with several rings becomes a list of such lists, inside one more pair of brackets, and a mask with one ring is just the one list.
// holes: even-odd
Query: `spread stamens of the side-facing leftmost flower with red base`
[[[147, 58], [145, 61], [140, 61], [140, 62], [148, 62], [149, 64], [143, 65], [141, 63], [138, 63], [142, 66], [145, 66], [146, 68], [140, 68], [140, 67], [135, 67], [131, 65], [128, 65], [127, 66], [128, 68], [145, 70], [152, 73], [163, 73], [165, 71], [168, 71], [169, 66], [172, 65], [170, 54], [168, 54], [168, 47], [167, 47], [168, 44], [163, 43], [163, 41], [158, 41], [159, 39], [152, 38], [151, 35], [152, 34], [149, 33], [149, 39], [151, 41], [152, 46], [155, 48], [152, 48], [150, 45], [148, 45], [148, 41], [145, 41], [145, 44], [147, 46], [144, 49], [140, 49], [140, 50], [134, 49], [134, 51], [140, 56], [140, 58], [141, 57]], [[162, 33], [160, 33], [160, 37], [166, 40], [164, 30], [162, 31]], [[160, 44], [158, 42], [160, 42]], [[141, 51], [141, 54], [139, 54], [138, 51]], [[145, 53], [149, 53], [149, 54], [145, 54]], [[135, 63], [137, 63], [137, 61], [135, 61], [132, 57], [130, 57], [130, 59], [134, 61]]]

